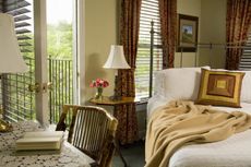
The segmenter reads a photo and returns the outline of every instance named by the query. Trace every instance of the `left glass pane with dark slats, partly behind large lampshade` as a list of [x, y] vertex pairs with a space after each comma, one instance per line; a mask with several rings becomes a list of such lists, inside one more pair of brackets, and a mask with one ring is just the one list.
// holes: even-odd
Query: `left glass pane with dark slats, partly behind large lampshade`
[[2, 106], [8, 121], [35, 118], [34, 94], [27, 85], [35, 84], [33, 47], [33, 0], [0, 0], [0, 11], [13, 15], [21, 52], [29, 72], [2, 75]]

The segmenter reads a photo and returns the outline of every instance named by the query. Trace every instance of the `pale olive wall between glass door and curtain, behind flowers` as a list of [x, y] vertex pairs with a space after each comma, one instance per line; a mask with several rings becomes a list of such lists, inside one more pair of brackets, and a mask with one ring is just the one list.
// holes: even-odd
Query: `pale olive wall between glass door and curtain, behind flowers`
[[110, 45], [117, 44], [117, 0], [85, 0], [85, 81], [81, 81], [84, 104], [95, 94], [89, 87], [92, 80], [106, 79], [110, 86], [104, 90], [104, 95], [113, 93], [113, 70], [103, 69], [109, 55]]

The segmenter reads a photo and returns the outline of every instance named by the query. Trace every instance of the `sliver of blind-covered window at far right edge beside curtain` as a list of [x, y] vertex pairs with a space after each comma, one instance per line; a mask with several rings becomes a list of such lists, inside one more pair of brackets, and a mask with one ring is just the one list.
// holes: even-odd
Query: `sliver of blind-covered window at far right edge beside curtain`
[[251, 29], [239, 64], [240, 70], [251, 70]]

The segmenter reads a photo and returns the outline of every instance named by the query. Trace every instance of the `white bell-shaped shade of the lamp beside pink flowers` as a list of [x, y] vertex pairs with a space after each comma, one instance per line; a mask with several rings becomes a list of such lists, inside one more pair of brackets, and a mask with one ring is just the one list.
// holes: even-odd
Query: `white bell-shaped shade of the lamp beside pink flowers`
[[120, 45], [111, 45], [109, 57], [104, 64], [105, 69], [130, 69], [124, 55], [123, 47]]

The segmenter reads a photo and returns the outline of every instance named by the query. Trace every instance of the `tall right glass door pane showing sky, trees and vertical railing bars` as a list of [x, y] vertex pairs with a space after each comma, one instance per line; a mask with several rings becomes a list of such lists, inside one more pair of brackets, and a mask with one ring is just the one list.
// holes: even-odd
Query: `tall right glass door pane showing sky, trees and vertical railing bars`
[[47, 51], [50, 122], [57, 123], [63, 104], [74, 104], [74, 0], [47, 0]]

